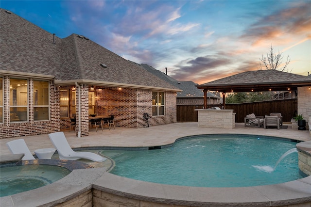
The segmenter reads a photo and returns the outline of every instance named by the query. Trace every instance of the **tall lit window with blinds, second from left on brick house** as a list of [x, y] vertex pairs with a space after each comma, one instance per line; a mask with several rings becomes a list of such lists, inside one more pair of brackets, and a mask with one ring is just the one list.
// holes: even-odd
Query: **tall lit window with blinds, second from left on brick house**
[[10, 79], [10, 122], [28, 120], [28, 80]]

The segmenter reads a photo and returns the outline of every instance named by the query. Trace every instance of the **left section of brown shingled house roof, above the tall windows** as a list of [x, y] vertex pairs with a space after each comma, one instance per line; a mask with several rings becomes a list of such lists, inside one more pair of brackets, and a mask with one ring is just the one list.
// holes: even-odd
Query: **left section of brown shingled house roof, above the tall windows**
[[7, 10], [0, 15], [1, 71], [58, 74], [61, 39]]

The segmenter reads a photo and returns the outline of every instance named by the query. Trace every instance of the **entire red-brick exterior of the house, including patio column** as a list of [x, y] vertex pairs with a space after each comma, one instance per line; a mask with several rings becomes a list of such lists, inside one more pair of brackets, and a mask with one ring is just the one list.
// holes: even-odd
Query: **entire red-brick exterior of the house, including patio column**
[[[69, 89], [69, 117], [60, 118], [59, 89], [50, 81], [50, 120], [34, 121], [33, 111], [33, 80], [29, 79], [29, 122], [9, 123], [9, 77], [3, 77], [4, 81], [4, 122], [0, 124], [0, 138], [48, 134], [60, 130], [68, 130], [70, 117], [75, 111], [71, 110], [71, 88]], [[88, 85], [80, 84], [81, 87], [81, 137], [88, 136]], [[76, 88], [78, 95], [79, 88]], [[98, 115], [114, 115], [115, 125], [118, 127], [145, 127], [146, 121], [143, 114], [149, 114], [149, 126], [169, 124], [176, 122], [176, 93], [165, 92], [165, 114], [152, 116], [152, 90], [111, 88], [96, 89], [95, 93], [96, 113]], [[78, 96], [76, 97], [76, 111], [78, 111]], [[79, 131], [79, 113], [76, 112], [76, 133]]]

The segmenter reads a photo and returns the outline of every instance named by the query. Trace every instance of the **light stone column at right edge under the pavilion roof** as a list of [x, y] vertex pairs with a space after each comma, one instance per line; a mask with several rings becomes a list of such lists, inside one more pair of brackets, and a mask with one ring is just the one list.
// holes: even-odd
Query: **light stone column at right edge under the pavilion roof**
[[306, 122], [310, 122], [311, 116], [311, 90], [309, 87], [298, 87], [297, 99], [298, 114], [302, 114]]

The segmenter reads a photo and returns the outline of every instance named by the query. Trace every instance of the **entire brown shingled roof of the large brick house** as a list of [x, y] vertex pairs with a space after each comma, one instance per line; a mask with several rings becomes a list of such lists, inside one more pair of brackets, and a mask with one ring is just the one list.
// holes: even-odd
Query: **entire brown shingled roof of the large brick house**
[[0, 12], [1, 74], [54, 78], [56, 85], [180, 91], [82, 35], [60, 39], [9, 11]]

